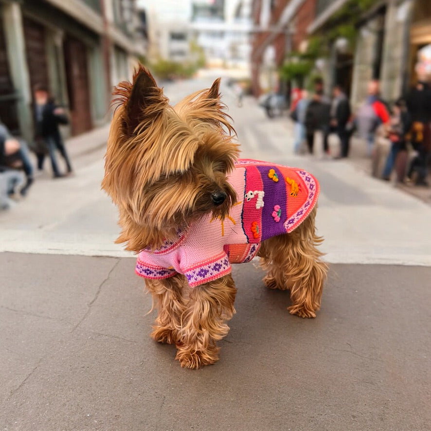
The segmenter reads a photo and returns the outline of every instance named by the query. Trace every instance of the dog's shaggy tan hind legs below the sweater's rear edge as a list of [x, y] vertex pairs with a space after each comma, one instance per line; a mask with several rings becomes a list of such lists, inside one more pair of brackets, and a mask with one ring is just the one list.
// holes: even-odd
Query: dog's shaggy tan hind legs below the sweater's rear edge
[[259, 250], [264, 278], [270, 288], [289, 289], [291, 314], [316, 317], [322, 300], [327, 265], [317, 250], [323, 238], [315, 233], [316, 209], [293, 232], [265, 240]]

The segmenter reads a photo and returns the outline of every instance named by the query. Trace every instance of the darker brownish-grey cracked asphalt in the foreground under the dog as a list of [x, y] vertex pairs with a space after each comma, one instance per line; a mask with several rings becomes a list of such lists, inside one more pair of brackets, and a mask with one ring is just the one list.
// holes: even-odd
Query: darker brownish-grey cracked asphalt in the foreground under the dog
[[430, 269], [331, 265], [316, 319], [237, 265], [221, 359], [149, 338], [130, 258], [3, 253], [3, 430], [429, 430]]

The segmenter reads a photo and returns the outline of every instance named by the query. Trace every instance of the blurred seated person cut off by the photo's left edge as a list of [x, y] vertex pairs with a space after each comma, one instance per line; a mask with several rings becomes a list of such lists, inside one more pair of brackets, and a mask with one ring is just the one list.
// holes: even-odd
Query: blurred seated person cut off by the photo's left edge
[[20, 194], [25, 196], [34, 181], [28, 147], [24, 141], [13, 137], [2, 124], [0, 124], [0, 169], [2, 172], [17, 169], [25, 172], [26, 180], [20, 189]]

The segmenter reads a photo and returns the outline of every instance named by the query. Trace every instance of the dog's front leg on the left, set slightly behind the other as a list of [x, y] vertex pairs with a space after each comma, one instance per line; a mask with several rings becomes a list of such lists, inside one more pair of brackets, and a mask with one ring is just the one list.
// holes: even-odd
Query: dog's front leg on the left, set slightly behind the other
[[174, 344], [178, 341], [181, 316], [187, 299], [183, 296], [187, 280], [181, 274], [163, 280], [145, 279], [145, 285], [153, 296], [153, 308], [158, 316], [153, 324], [151, 337], [159, 342]]

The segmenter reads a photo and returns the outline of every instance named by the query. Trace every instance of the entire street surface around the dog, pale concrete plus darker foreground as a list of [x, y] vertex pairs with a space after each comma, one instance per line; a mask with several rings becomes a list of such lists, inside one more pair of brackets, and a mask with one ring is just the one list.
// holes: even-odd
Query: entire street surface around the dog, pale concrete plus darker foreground
[[[176, 102], [210, 83], [165, 92]], [[54, 181], [47, 166], [0, 213], [3, 430], [430, 429], [431, 206], [370, 178], [363, 158], [294, 156], [286, 118], [222, 93], [242, 157], [321, 182], [330, 274], [318, 317], [289, 315], [257, 262], [235, 266], [220, 361], [181, 369], [174, 347], [149, 339], [151, 298], [113, 243], [116, 210], [100, 191], [107, 128], [70, 140], [76, 175]]]

